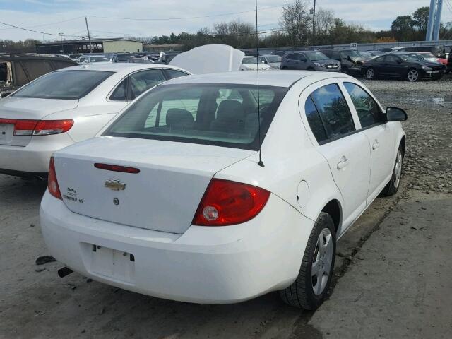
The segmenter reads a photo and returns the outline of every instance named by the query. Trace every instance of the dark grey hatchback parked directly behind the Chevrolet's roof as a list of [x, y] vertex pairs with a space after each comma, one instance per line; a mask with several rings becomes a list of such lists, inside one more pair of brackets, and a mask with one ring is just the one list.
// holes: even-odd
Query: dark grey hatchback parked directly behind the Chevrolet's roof
[[287, 52], [281, 60], [281, 69], [340, 72], [340, 63], [318, 51]]

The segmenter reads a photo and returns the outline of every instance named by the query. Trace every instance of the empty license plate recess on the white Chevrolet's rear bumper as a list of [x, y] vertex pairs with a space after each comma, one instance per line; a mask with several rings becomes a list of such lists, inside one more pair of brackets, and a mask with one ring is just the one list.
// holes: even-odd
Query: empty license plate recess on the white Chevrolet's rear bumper
[[135, 256], [96, 244], [82, 244], [88, 272], [119, 283], [135, 284]]

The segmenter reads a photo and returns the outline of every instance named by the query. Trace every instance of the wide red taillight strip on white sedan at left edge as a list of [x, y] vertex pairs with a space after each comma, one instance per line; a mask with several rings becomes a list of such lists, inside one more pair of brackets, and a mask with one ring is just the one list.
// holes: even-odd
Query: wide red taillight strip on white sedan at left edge
[[14, 125], [15, 136], [49, 136], [69, 131], [73, 126], [73, 120], [0, 119], [0, 124]]

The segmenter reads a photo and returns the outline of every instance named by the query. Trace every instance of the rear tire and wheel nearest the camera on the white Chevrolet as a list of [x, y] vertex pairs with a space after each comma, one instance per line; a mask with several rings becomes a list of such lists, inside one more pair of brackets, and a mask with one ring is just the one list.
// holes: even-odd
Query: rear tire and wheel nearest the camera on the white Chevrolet
[[333, 276], [336, 234], [333, 219], [320, 213], [304, 250], [294, 283], [280, 291], [283, 301], [302, 309], [317, 309], [328, 293]]

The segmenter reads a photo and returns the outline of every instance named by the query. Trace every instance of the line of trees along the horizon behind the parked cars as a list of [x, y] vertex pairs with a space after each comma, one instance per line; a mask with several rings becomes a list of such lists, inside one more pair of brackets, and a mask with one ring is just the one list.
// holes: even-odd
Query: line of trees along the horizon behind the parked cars
[[[196, 33], [155, 36], [141, 40], [145, 44], [182, 44], [184, 50], [203, 44], [229, 44], [235, 48], [303, 47], [309, 45], [403, 42], [424, 40], [429, 20], [429, 7], [418, 8], [412, 15], [398, 16], [391, 29], [378, 32], [357, 23], [346, 23], [325, 8], [316, 11], [315, 19], [307, 0], [295, 0], [283, 6], [279, 28], [258, 31], [256, 26], [239, 20], [215, 23]], [[452, 23], [441, 23], [440, 38], [452, 39]], [[0, 52], [35, 52], [39, 40], [13, 42], [0, 40]]]

